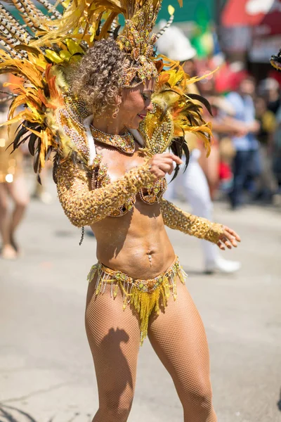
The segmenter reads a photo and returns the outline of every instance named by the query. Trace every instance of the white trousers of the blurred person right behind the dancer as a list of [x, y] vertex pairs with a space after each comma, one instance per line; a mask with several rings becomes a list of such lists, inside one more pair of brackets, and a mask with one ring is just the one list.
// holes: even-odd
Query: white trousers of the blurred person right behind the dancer
[[[213, 204], [209, 191], [206, 176], [200, 167], [198, 159], [200, 158], [200, 151], [195, 149], [190, 153], [190, 162], [188, 168], [183, 173], [179, 170], [178, 176], [171, 184], [164, 195], [166, 200], [173, 201], [176, 194], [181, 190], [181, 195], [185, 198], [192, 208], [192, 214], [204, 217], [212, 221]], [[166, 179], [169, 182], [173, 176], [167, 174]], [[208, 241], [200, 241], [202, 244], [204, 261], [215, 262], [218, 257], [218, 246]]]

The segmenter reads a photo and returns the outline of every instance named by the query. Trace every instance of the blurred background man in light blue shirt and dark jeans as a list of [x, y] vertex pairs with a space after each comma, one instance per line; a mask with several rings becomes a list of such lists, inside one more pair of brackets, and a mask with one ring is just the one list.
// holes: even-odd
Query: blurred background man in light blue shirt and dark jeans
[[245, 77], [238, 91], [226, 96], [235, 110], [235, 120], [239, 122], [241, 131], [244, 131], [244, 135], [232, 137], [236, 155], [233, 160], [233, 188], [229, 197], [233, 210], [244, 203], [243, 191], [247, 182], [254, 181], [261, 174], [259, 141], [256, 138], [260, 124], [255, 118], [254, 91], [254, 79]]

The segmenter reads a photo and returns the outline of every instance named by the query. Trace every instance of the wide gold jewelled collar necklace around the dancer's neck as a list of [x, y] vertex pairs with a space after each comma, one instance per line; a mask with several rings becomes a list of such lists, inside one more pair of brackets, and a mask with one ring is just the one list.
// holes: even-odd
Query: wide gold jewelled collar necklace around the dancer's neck
[[92, 125], [90, 129], [93, 139], [96, 139], [96, 141], [113, 146], [125, 154], [132, 155], [135, 152], [135, 140], [129, 130], [126, 129], [124, 135], [112, 135], [106, 134]]

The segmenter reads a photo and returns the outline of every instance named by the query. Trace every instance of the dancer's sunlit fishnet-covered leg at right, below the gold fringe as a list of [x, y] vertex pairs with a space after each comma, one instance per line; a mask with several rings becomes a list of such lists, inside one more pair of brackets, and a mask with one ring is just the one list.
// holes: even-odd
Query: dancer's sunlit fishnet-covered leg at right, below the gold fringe
[[187, 288], [177, 288], [176, 300], [151, 319], [150, 343], [173, 378], [184, 422], [216, 422], [204, 326]]

